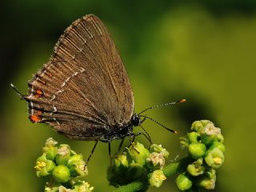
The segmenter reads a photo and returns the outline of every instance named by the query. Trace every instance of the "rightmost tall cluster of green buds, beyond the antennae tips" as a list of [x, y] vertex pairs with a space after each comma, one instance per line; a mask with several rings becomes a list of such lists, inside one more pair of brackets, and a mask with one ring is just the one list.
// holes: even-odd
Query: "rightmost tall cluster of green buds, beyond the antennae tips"
[[193, 160], [186, 171], [178, 175], [176, 184], [179, 190], [190, 190], [192, 187], [213, 190], [216, 169], [224, 162], [224, 137], [221, 129], [208, 120], [193, 122], [191, 130], [181, 138], [181, 143], [188, 148]]

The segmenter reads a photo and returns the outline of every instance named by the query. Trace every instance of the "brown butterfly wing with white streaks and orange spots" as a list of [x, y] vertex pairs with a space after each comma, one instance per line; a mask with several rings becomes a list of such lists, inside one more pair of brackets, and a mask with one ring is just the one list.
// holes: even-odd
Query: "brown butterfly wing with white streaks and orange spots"
[[32, 122], [46, 122], [70, 138], [94, 140], [126, 125], [134, 97], [110, 34], [93, 14], [69, 26], [54, 54], [30, 80]]

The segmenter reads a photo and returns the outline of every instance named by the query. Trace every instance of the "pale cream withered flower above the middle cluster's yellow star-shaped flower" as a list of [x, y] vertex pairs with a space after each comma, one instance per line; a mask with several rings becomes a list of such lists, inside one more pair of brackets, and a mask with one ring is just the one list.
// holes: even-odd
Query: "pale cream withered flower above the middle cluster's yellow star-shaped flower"
[[166, 159], [164, 158], [162, 152], [160, 154], [153, 152], [148, 158], [146, 158], [146, 165], [151, 170], [162, 169], [165, 163]]

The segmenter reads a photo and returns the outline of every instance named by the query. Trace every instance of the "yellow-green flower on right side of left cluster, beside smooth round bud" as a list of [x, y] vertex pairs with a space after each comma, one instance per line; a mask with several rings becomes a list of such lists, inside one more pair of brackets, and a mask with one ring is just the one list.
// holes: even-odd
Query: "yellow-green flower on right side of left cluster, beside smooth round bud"
[[72, 177], [86, 176], [88, 170], [86, 168], [86, 162], [83, 161], [82, 154], [74, 154], [67, 162], [67, 166], [70, 168], [70, 174]]

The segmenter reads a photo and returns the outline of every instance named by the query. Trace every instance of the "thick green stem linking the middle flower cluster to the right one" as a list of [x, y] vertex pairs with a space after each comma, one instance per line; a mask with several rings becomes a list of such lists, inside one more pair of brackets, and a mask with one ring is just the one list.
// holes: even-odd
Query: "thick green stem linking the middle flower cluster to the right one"
[[[165, 166], [162, 171], [166, 175], [166, 178], [169, 178], [173, 174], [178, 172], [182, 172], [186, 169], [186, 165], [190, 162], [190, 158], [182, 158], [178, 162], [170, 162], [169, 165]], [[131, 182], [126, 186], [120, 186], [118, 189], [114, 190], [113, 192], [135, 192], [135, 191], [142, 191], [142, 189], [147, 188], [148, 183], [142, 181]]]

